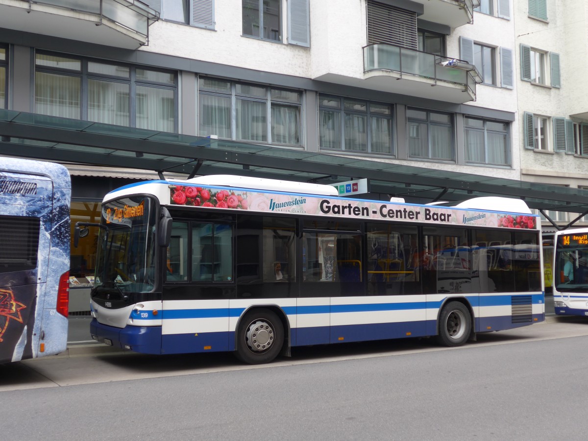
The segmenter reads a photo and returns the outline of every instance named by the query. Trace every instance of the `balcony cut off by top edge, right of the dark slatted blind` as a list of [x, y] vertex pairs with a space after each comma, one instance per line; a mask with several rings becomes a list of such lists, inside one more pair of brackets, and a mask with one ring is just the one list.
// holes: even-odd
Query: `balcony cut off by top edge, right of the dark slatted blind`
[[424, 6], [422, 20], [427, 20], [451, 28], [473, 23], [474, 8], [480, 0], [412, 0]]

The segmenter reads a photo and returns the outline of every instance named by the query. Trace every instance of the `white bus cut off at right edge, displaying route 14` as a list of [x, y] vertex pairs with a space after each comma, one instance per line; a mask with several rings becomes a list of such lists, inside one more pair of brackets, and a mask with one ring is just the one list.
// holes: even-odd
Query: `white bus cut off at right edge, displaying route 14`
[[557, 231], [553, 242], [555, 313], [588, 316], [588, 228]]

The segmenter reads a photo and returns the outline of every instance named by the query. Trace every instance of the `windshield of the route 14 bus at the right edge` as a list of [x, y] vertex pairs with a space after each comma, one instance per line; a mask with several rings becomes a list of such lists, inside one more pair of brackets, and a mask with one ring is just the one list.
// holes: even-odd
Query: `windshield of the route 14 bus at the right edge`
[[588, 245], [586, 235], [562, 234], [555, 250], [554, 285], [560, 292], [588, 289]]

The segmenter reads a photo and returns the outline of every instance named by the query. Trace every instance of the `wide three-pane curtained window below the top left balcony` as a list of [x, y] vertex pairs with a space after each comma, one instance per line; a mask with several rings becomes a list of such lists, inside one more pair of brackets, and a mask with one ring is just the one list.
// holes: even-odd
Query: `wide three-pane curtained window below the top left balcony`
[[36, 113], [176, 131], [173, 72], [43, 53], [35, 65]]

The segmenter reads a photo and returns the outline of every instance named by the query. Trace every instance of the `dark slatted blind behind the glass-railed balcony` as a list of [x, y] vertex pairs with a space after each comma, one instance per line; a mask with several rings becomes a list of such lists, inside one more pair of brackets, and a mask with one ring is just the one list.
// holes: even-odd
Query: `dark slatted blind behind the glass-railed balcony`
[[368, 0], [368, 44], [418, 49], [416, 12]]

